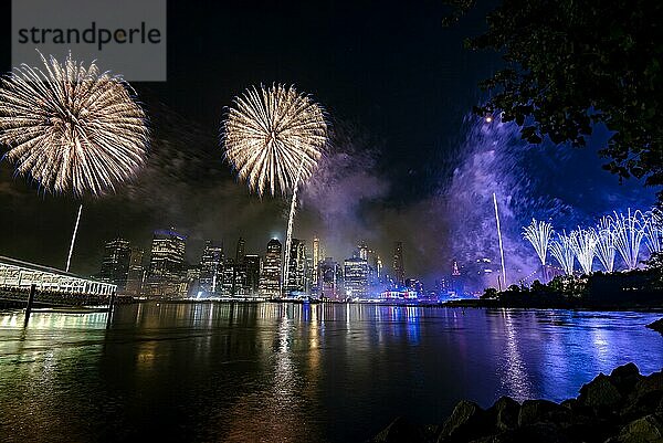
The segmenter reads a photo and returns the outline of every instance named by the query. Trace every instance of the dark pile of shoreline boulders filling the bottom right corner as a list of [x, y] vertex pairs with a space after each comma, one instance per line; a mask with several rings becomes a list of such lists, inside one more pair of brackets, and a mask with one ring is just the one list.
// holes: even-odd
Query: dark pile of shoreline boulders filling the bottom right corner
[[663, 370], [645, 377], [628, 363], [600, 373], [561, 403], [502, 397], [484, 410], [464, 400], [442, 425], [398, 418], [369, 442], [663, 443]]

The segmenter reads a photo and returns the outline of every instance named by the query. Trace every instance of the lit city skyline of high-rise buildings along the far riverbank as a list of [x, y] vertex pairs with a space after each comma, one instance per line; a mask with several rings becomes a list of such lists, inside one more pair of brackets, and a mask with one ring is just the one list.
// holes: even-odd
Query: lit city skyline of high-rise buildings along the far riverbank
[[[394, 242], [397, 254], [403, 243]], [[93, 277], [113, 283], [120, 295], [168, 298], [282, 298], [292, 296], [346, 298], [398, 298], [399, 291], [412, 291], [420, 298], [434, 294], [463, 296], [457, 286], [439, 282], [453, 278], [451, 268], [441, 271], [428, 291], [419, 276], [407, 274], [394, 255], [393, 266], [385, 268], [379, 253], [366, 241], [343, 256], [320, 254], [324, 239], [293, 239], [290, 276], [285, 281], [285, 251], [277, 239], [262, 250], [246, 250], [246, 240], [238, 238], [234, 249], [218, 240], [207, 240], [198, 260], [185, 259], [187, 236], [175, 228], [152, 232], [148, 254], [123, 238], [104, 244], [101, 268]], [[317, 250], [317, 254], [314, 251]], [[317, 255], [317, 261], [313, 257]], [[453, 262], [455, 265], [455, 261]], [[457, 266], [454, 267], [457, 272]], [[460, 273], [457, 274], [460, 276]], [[400, 295], [402, 296], [402, 294]], [[414, 297], [417, 297], [414, 296]]]

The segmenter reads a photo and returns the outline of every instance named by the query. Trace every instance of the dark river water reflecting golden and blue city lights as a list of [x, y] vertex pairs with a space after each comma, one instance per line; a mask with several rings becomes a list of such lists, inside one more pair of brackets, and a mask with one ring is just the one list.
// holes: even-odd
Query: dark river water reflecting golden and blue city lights
[[362, 442], [455, 402], [663, 367], [661, 315], [372, 305], [0, 312], [0, 441]]

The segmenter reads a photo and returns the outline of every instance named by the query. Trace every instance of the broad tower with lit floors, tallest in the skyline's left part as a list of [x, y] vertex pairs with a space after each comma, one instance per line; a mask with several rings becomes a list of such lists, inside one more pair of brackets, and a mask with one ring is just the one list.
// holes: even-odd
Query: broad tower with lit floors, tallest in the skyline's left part
[[147, 277], [148, 295], [181, 295], [181, 285], [186, 283], [186, 247], [187, 238], [175, 229], [155, 231]]

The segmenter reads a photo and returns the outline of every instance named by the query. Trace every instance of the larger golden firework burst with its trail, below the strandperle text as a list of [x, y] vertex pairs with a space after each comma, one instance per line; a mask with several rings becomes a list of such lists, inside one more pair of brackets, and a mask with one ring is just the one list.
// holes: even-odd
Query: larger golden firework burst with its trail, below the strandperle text
[[134, 91], [71, 54], [63, 63], [41, 59], [43, 70], [23, 64], [0, 82], [7, 159], [44, 191], [76, 198], [115, 191], [145, 164], [148, 129]]

